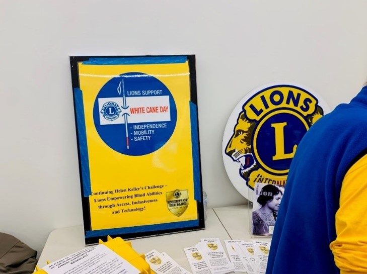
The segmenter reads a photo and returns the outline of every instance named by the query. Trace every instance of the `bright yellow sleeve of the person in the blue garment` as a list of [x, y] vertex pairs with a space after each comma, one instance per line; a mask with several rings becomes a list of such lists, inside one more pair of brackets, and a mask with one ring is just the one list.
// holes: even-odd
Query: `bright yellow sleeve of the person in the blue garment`
[[346, 173], [336, 213], [336, 239], [330, 243], [341, 274], [367, 273], [367, 155]]

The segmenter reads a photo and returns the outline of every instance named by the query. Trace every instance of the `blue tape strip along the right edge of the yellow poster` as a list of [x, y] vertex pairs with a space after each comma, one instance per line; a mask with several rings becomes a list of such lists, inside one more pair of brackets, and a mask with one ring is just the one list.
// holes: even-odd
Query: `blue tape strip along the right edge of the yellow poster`
[[192, 167], [194, 172], [194, 199], [201, 202], [201, 184], [200, 184], [200, 155], [197, 127], [197, 108], [190, 101], [190, 122], [191, 122], [191, 149], [192, 149]]

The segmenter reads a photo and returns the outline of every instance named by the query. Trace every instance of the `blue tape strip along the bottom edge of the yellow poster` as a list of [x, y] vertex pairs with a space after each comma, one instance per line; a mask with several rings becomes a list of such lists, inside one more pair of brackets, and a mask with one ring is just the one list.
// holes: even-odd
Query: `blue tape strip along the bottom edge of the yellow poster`
[[107, 235], [119, 235], [119, 234], [122, 235], [122, 234], [148, 232], [148, 231], [152, 232], [152, 231], [178, 229], [178, 228], [189, 228], [189, 227], [197, 227], [198, 225], [199, 225], [199, 221], [193, 220], [193, 221], [183, 221], [183, 222], [166, 223], [166, 224], [159, 224], [159, 225], [145, 225], [145, 226], [124, 227], [124, 228], [88, 230], [86, 231], [86, 238], [100, 237], [100, 236], [107, 236]]

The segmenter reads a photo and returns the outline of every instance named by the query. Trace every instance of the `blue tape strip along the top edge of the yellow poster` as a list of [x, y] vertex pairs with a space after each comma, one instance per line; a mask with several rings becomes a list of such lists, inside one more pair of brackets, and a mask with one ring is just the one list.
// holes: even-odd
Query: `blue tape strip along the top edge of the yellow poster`
[[90, 58], [85, 65], [133, 65], [133, 64], [175, 64], [185, 63], [187, 56], [141, 56]]

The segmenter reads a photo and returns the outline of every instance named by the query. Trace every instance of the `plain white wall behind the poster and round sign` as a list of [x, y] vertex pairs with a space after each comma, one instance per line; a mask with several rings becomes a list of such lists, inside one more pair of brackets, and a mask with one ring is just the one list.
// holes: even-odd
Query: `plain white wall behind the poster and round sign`
[[[209, 207], [245, 203], [222, 136], [235, 105], [272, 80], [331, 108], [367, 75], [365, 0], [0, 1], [0, 231], [41, 251], [82, 224], [69, 55], [196, 54]], [[208, 235], [210, 236], [210, 235]]]

